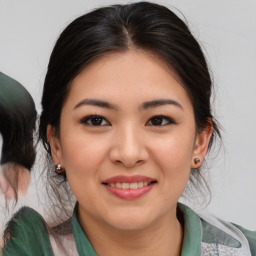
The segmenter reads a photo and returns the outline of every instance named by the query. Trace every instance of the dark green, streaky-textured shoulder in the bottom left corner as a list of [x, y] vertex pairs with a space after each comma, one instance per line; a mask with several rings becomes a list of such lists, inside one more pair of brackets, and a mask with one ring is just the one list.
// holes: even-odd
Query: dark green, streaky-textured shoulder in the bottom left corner
[[43, 217], [29, 207], [21, 208], [4, 232], [3, 256], [53, 255]]

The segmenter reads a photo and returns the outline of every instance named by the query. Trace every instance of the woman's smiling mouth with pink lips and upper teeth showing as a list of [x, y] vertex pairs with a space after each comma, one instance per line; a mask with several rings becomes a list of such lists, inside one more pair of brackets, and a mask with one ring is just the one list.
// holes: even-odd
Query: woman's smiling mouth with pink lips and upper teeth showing
[[145, 195], [156, 183], [156, 180], [140, 175], [115, 176], [102, 182], [111, 194], [126, 200]]

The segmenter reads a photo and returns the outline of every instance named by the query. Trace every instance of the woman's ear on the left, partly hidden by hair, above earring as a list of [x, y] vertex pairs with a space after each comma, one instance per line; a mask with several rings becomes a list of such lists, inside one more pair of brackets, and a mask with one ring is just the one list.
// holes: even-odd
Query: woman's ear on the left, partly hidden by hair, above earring
[[47, 126], [47, 139], [51, 146], [52, 159], [55, 165], [61, 164], [62, 153], [60, 139], [57, 137], [56, 132], [52, 125]]

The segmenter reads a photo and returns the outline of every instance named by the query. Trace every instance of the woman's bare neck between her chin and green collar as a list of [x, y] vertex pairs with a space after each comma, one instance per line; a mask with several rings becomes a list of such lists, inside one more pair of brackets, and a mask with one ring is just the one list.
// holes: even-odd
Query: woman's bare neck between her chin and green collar
[[[173, 214], [172, 214], [173, 215]], [[141, 230], [119, 230], [90, 218], [79, 218], [89, 241], [99, 256], [178, 256], [183, 231], [176, 217], [168, 214]]]

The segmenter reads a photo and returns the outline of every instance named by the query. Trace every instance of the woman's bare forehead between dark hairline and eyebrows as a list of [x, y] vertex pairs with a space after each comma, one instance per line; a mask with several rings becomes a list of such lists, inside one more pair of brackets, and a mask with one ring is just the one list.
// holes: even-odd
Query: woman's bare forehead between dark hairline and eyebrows
[[87, 65], [71, 83], [68, 98], [137, 102], [171, 97], [190, 104], [181, 79], [162, 59], [145, 51], [111, 53]]

